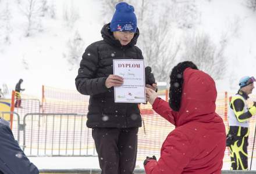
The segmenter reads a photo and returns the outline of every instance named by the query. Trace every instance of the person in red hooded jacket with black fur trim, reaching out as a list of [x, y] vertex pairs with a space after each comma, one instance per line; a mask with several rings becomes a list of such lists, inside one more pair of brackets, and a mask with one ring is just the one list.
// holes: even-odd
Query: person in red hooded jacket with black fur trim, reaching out
[[146, 95], [152, 108], [175, 129], [163, 142], [159, 160], [153, 156], [144, 161], [145, 173], [221, 173], [226, 132], [215, 113], [214, 79], [193, 62], [183, 61], [170, 74], [169, 103], [149, 88]]

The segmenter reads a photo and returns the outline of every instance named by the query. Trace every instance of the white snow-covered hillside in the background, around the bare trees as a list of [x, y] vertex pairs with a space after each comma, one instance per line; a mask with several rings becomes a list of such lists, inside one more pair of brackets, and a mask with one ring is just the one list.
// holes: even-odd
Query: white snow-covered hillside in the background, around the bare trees
[[[40, 1], [47, 2], [48, 9], [35, 17], [36, 29], [31, 29], [29, 37], [26, 37], [28, 20], [24, 15], [25, 2], [0, 0], [0, 88], [2, 84], [7, 84], [12, 90], [23, 78], [22, 88], [29, 95], [40, 97], [41, 85], [75, 90], [74, 78], [79, 62], [73, 62], [72, 66], [68, 61], [68, 43], [79, 33], [84, 45], [81, 56], [89, 44], [101, 39], [100, 30], [104, 21], [111, 20], [102, 16], [103, 1]], [[256, 75], [256, 13], [248, 9], [243, 0], [193, 2], [200, 13], [200, 23], [194, 31], [207, 33], [216, 43], [220, 38], [227, 41], [224, 52], [227, 71], [222, 80], [216, 81], [217, 88], [237, 90], [240, 77]], [[131, 1], [133, 3], [136, 1]], [[9, 20], [6, 20], [6, 9], [9, 9]], [[75, 21], [67, 15], [72, 9], [78, 16], [73, 16]], [[6, 26], [9, 26], [7, 30]], [[182, 35], [189, 32], [183, 31]], [[9, 36], [7, 42], [4, 39], [6, 35]]]

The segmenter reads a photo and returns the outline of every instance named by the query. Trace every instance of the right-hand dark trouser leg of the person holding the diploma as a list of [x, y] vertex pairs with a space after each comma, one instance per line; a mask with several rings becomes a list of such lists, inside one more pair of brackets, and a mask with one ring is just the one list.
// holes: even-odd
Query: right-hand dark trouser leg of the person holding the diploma
[[120, 174], [132, 174], [137, 158], [138, 128], [122, 129], [119, 136]]

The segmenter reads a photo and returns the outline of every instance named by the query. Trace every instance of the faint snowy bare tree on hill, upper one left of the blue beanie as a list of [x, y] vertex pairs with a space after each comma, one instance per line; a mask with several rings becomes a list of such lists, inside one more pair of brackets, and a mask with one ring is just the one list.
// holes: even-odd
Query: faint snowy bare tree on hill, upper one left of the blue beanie
[[66, 26], [73, 28], [74, 23], [80, 18], [79, 10], [74, 7], [73, 3], [67, 7], [63, 6], [63, 20], [65, 21]]

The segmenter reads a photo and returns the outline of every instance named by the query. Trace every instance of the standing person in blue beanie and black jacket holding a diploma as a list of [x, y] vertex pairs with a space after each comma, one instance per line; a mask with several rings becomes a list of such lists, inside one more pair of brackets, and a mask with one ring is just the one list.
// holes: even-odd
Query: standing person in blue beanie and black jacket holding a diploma
[[[115, 103], [113, 86], [123, 78], [113, 75], [113, 59], [143, 59], [135, 46], [139, 31], [133, 6], [116, 5], [111, 23], [101, 30], [103, 40], [87, 47], [76, 77], [76, 88], [90, 95], [87, 126], [93, 139], [102, 174], [131, 174], [136, 164], [137, 133], [141, 115], [136, 103]], [[154, 75], [145, 74], [147, 86], [156, 89]]]

